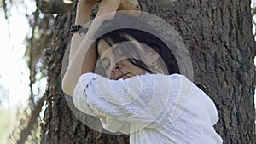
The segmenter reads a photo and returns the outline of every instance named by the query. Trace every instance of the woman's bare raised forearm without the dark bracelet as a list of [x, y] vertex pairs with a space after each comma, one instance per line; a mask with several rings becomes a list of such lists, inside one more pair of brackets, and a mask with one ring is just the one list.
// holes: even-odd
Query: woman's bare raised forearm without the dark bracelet
[[[73, 45], [73, 54], [70, 55], [72, 58], [69, 59], [67, 72], [62, 82], [62, 89], [68, 95], [73, 95], [73, 89], [83, 73], [94, 72], [96, 66], [96, 48], [93, 44], [94, 40], [90, 35], [96, 32], [99, 26], [102, 25], [102, 21], [113, 18], [113, 12], [116, 11], [118, 6], [119, 0], [102, 0], [96, 18], [92, 21], [87, 34], [82, 38], [79, 46], [76, 47], [77, 49]], [[100, 17], [102, 14], [108, 14], [108, 16], [102, 18]]]

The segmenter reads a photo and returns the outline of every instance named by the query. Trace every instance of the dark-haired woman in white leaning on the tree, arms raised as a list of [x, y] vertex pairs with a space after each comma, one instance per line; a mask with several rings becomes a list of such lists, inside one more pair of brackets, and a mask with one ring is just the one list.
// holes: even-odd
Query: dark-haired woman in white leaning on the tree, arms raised
[[[95, 3], [79, 1], [76, 25], [89, 21]], [[104, 129], [129, 134], [131, 144], [222, 143], [213, 128], [218, 121], [214, 103], [178, 74], [160, 35], [132, 28], [105, 32], [137, 22], [150, 29], [135, 17], [114, 14], [119, 4], [102, 0], [87, 34], [73, 33], [63, 91], [81, 112], [99, 117]], [[98, 19], [103, 14], [107, 20]]]

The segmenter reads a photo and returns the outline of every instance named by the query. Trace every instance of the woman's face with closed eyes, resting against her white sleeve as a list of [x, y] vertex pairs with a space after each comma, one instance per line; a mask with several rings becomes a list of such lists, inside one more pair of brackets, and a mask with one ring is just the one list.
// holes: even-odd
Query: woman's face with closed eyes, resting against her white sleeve
[[[110, 79], [131, 78], [136, 75], [143, 75], [147, 71], [134, 66], [127, 59], [124, 50], [119, 47], [109, 48], [108, 43], [100, 40], [98, 43], [98, 54], [106, 75]], [[114, 50], [114, 51], [113, 51]]]

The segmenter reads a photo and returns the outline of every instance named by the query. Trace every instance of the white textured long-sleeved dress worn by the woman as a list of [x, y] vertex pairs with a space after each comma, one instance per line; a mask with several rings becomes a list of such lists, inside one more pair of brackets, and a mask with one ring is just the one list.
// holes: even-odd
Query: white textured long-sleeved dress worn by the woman
[[219, 144], [213, 101], [183, 75], [145, 74], [111, 80], [83, 74], [73, 92], [81, 112], [106, 116], [104, 129], [131, 144]]

